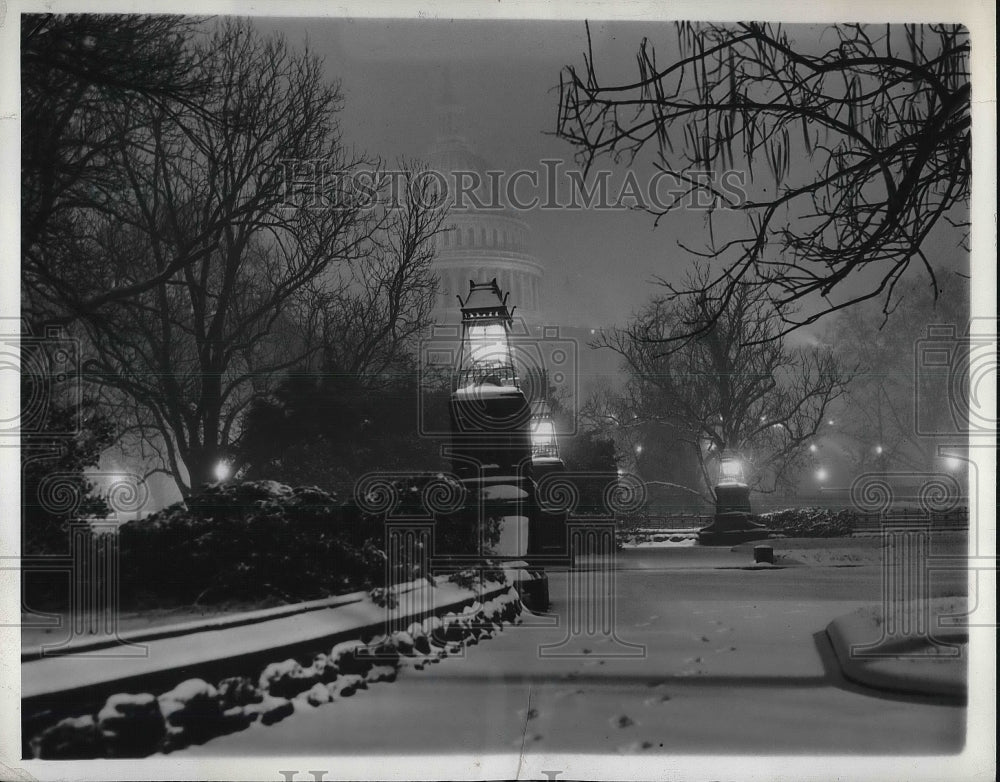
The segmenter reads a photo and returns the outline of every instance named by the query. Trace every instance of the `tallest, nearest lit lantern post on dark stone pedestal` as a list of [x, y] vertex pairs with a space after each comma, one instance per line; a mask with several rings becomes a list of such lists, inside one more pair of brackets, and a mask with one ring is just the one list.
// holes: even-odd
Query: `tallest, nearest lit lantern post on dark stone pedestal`
[[449, 404], [450, 457], [466, 488], [467, 512], [477, 514], [481, 529], [487, 521], [499, 526], [491, 551], [467, 553], [479, 558], [488, 554], [520, 567], [516, 581], [522, 600], [544, 608], [547, 581], [521, 562], [529, 554], [531, 522], [538, 511], [531, 480], [531, 410], [518, 382], [510, 343], [513, 309], [507, 299], [496, 279], [470, 280], [468, 295], [459, 297], [462, 342]]

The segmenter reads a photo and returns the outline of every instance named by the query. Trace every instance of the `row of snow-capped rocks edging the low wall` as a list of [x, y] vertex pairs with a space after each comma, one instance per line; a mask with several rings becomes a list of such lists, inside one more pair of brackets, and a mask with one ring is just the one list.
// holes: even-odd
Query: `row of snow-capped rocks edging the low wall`
[[[459, 603], [452, 601], [423, 619], [415, 616], [405, 630], [364, 638], [367, 626], [358, 626], [358, 637], [332, 648], [303, 646], [293, 657], [272, 658], [255, 676], [206, 677], [213, 684], [187, 670], [184, 681], [158, 695], [114, 692], [100, 708], [51, 715], [47, 724], [47, 715], [33, 714], [29, 705], [24, 743], [32, 756], [43, 759], [144, 757], [202, 743], [258, 720], [277, 722], [296, 708], [313, 708], [350, 697], [369, 684], [393, 681], [400, 667], [423, 668], [520, 622], [523, 609], [514, 587], [495, 582], [482, 587], [478, 597], [462, 590]], [[395, 627], [404, 626], [401, 616], [394, 619]]]

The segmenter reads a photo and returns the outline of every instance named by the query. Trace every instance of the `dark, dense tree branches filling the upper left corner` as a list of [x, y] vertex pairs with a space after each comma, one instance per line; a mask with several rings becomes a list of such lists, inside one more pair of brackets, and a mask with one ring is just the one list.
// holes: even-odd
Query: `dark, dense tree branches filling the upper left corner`
[[194, 260], [177, 254], [149, 278], [109, 279], [88, 253], [86, 231], [106, 211], [109, 191], [122, 186], [123, 135], [142, 132], [150, 111], [200, 111], [208, 75], [188, 43], [202, 22], [21, 17], [21, 271], [24, 314], [35, 326], [141, 293]]

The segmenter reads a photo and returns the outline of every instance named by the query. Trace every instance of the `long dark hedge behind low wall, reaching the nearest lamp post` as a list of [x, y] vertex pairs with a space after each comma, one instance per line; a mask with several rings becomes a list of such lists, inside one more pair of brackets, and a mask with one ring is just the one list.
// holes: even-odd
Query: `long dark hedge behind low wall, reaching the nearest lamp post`
[[[457, 484], [432, 474], [387, 480], [377, 497], [346, 502], [315, 486], [292, 488], [276, 481], [205, 487], [186, 505], [122, 525], [123, 601], [133, 606], [264, 597], [294, 602], [387, 590], [426, 577], [427, 555], [469, 554], [478, 551], [479, 541], [475, 515], [458, 511], [436, 519], [429, 542], [434, 552], [386, 556], [387, 519], [433, 518], [426, 511], [432, 481], [437, 490], [461, 496]], [[494, 527], [487, 523], [487, 542], [495, 542]]]

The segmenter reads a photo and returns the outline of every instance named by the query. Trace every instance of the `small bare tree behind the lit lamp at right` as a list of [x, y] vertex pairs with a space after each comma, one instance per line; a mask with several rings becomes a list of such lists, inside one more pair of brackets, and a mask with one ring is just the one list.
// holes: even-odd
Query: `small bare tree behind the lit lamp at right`
[[[669, 426], [695, 455], [704, 483], [726, 450], [739, 452], [758, 491], [786, 482], [824, 419], [845, 390], [847, 375], [828, 350], [790, 348], [764, 293], [734, 289], [721, 315], [701, 292], [709, 272], [689, 276], [681, 300], [654, 298], [622, 329], [596, 346], [624, 359], [628, 382], [606, 399], [616, 426]], [[696, 326], [696, 336], [684, 336]], [[688, 487], [698, 490], [697, 487]]]

